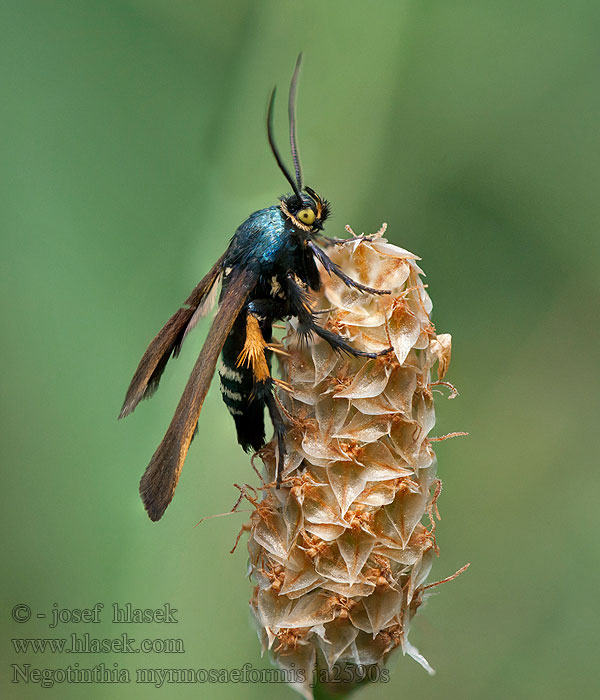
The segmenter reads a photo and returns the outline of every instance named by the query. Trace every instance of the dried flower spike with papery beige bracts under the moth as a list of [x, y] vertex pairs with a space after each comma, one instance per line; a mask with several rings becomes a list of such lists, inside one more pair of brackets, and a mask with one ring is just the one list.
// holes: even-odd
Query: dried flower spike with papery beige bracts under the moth
[[279, 354], [291, 426], [282, 488], [269, 443], [262, 497], [247, 492], [251, 608], [263, 648], [309, 699], [315, 679], [342, 695], [374, 680], [398, 646], [433, 672], [408, 630], [437, 553], [431, 371], [437, 363], [441, 382], [451, 339], [431, 323], [418, 258], [384, 231], [330, 256], [392, 294], [362, 294], [323, 272], [314, 308], [356, 348], [393, 353], [365, 360], [317, 338], [302, 343], [292, 319]]

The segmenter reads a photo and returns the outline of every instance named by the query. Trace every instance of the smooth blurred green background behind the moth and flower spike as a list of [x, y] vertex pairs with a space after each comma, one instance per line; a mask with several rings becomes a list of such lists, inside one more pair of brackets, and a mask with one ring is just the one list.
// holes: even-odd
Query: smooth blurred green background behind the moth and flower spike
[[[59, 607], [171, 602], [183, 656], [79, 657], [121, 668], [239, 668], [249, 623], [252, 481], [213, 386], [160, 524], [139, 477], [207, 325], [153, 401], [116, 415], [147, 342], [250, 211], [285, 183], [264, 116], [305, 62], [306, 179], [342, 235], [389, 223], [423, 259], [434, 321], [454, 337], [436, 433], [444, 481], [433, 577], [411, 638], [437, 669], [392, 658], [362, 697], [595, 697], [598, 559], [600, 6], [546, 2], [3, 0], [2, 686], [6, 698], [293, 698], [277, 685], [12, 685], [13, 636], [61, 636]], [[216, 383], [215, 383], [216, 384]], [[15, 603], [34, 618], [11, 621]], [[105, 618], [108, 618], [108, 613]]]

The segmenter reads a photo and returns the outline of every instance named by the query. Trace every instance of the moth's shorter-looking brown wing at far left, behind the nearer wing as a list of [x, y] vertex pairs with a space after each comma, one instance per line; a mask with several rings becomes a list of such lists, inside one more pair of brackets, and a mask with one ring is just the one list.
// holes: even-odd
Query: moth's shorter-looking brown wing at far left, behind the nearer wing
[[171, 316], [148, 346], [127, 389], [119, 418], [128, 416], [142, 399], [152, 396], [158, 389], [169, 358], [179, 354], [185, 335], [198, 320], [197, 312], [202, 302], [213, 291], [223, 269], [224, 258], [225, 255], [222, 255], [217, 260], [185, 300], [184, 306]]

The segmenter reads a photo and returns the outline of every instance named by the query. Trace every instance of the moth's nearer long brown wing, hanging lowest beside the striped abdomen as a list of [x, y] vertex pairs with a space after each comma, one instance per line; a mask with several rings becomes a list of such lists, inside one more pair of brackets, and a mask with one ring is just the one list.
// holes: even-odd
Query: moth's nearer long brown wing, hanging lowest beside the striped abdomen
[[219, 353], [256, 279], [255, 273], [246, 269], [236, 271], [227, 284], [173, 420], [142, 476], [140, 495], [151, 520], [160, 520], [173, 498]]

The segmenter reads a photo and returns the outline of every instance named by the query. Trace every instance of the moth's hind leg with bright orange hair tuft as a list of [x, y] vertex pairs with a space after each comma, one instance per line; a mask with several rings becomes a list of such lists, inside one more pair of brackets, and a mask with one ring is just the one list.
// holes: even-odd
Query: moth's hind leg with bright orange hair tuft
[[[267, 340], [271, 340], [273, 303], [270, 300], [255, 300], [248, 304], [246, 312], [246, 341], [238, 356], [238, 366], [252, 369], [254, 400], [266, 404], [273, 423], [277, 440], [276, 482], [281, 484], [281, 474], [285, 460], [285, 422], [273, 395], [273, 378], [270, 371], [271, 350]], [[267, 338], [265, 339], [265, 336]]]

